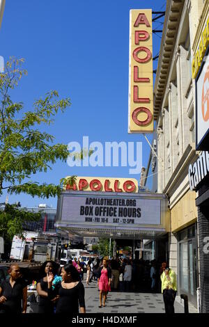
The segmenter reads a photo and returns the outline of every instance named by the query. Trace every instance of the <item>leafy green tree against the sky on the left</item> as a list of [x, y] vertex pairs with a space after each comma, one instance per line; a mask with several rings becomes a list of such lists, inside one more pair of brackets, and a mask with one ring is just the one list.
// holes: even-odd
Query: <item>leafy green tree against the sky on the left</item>
[[[51, 90], [33, 103], [31, 111], [25, 111], [24, 104], [13, 102], [10, 96], [10, 91], [27, 74], [22, 63], [22, 58], [10, 58], [0, 74], [0, 195], [6, 190], [8, 194], [26, 193], [40, 198], [59, 196], [65, 179], [59, 185], [40, 184], [32, 180], [32, 175], [46, 173], [53, 163], [66, 161], [70, 155], [67, 145], [54, 144], [54, 136], [38, 129], [40, 125], [51, 125], [56, 113], [68, 109], [70, 98], [59, 99], [57, 91]], [[82, 159], [84, 153], [79, 156]], [[67, 182], [73, 183], [75, 179], [72, 176]], [[22, 236], [24, 221], [40, 219], [40, 214], [26, 212], [15, 205], [6, 204], [0, 209], [0, 234], [10, 239], [14, 234]]]

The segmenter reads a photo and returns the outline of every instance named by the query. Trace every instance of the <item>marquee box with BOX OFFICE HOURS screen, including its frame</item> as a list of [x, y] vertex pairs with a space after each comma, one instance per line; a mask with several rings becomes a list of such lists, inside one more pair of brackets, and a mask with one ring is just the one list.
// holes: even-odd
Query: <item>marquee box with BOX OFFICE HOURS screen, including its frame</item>
[[[58, 228], [83, 231], [97, 228], [166, 232], [167, 199], [156, 193], [63, 191], [57, 205]], [[95, 234], [94, 234], [95, 235]]]

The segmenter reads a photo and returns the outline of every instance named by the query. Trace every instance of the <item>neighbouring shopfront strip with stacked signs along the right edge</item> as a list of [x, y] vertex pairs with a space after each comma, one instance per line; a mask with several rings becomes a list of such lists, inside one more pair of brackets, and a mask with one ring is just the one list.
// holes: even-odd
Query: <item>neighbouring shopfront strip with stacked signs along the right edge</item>
[[192, 79], [195, 88], [196, 159], [189, 165], [190, 192], [196, 196], [199, 230], [199, 311], [209, 312], [209, 1], [202, 1], [201, 16], [192, 44]]

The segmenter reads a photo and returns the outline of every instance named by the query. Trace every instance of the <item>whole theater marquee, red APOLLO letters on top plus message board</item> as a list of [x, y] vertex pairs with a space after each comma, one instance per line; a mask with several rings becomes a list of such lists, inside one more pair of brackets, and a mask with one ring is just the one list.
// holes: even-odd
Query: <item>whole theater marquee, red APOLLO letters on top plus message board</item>
[[[77, 177], [61, 193], [56, 212], [57, 228], [82, 237], [130, 240], [136, 258], [141, 240], [166, 242], [169, 222], [166, 196], [139, 192], [137, 180], [112, 177]], [[158, 248], [155, 257], [166, 260], [165, 246]]]

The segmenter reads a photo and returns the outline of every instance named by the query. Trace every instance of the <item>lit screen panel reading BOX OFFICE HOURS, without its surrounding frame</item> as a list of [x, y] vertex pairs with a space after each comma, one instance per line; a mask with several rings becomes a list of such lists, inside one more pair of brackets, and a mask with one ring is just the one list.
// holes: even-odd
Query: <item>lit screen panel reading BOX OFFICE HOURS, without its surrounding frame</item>
[[59, 220], [90, 225], [160, 225], [160, 200], [64, 194]]

